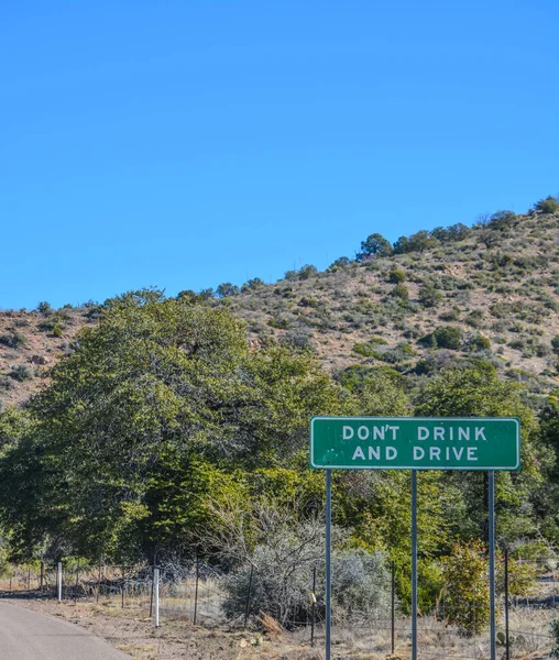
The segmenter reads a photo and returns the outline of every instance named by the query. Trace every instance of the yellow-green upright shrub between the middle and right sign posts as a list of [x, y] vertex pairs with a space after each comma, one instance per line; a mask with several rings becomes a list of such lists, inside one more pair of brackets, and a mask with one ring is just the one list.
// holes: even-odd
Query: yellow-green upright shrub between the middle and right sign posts
[[454, 543], [442, 559], [445, 614], [462, 635], [471, 637], [489, 625], [487, 558], [479, 540]]

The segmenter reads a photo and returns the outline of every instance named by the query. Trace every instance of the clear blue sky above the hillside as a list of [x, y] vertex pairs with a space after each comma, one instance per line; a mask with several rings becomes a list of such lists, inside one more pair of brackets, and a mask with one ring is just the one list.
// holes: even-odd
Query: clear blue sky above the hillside
[[559, 193], [557, 0], [0, 4], [0, 308], [275, 280]]

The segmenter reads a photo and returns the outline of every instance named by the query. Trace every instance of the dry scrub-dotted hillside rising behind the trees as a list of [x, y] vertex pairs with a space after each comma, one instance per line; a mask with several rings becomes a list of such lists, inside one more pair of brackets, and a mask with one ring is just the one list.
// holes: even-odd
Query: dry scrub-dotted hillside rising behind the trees
[[[335, 372], [387, 364], [415, 378], [483, 359], [534, 394], [557, 387], [556, 207], [501, 211], [472, 229], [418, 232], [396, 250], [365, 251], [321, 273], [305, 266], [275, 284], [221, 285], [209, 304], [245, 319], [253, 342], [313, 348]], [[0, 400], [21, 403], [36, 391], [79, 329], [98, 317], [95, 304], [0, 312]]]

